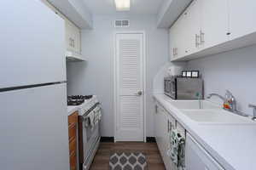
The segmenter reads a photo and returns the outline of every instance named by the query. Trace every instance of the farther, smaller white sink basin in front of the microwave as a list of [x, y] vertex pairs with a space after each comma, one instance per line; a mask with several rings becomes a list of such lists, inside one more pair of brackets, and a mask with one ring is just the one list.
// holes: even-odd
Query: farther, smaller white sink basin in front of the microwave
[[207, 100], [172, 100], [171, 102], [177, 109], [222, 109], [220, 105], [213, 104]]

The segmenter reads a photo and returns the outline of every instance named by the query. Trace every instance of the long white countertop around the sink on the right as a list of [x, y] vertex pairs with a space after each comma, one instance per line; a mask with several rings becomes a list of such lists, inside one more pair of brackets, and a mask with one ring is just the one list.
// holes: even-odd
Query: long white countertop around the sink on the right
[[166, 111], [172, 112], [178, 122], [227, 170], [252, 170], [256, 157], [255, 125], [199, 124], [174, 107], [164, 94], [154, 94]]

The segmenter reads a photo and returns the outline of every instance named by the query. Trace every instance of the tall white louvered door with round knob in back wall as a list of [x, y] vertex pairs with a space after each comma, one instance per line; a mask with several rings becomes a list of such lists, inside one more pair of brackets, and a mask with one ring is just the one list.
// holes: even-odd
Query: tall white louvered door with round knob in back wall
[[116, 35], [116, 141], [143, 141], [143, 34]]

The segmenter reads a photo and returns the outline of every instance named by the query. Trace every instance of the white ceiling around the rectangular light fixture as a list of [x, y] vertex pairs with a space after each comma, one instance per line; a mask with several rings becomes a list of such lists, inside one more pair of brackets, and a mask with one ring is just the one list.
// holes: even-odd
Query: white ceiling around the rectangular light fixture
[[[92, 14], [117, 14], [114, 0], [83, 0]], [[158, 14], [161, 4], [165, 0], [131, 0], [131, 10], [129, 12], [119, 12], [127, 14]]]

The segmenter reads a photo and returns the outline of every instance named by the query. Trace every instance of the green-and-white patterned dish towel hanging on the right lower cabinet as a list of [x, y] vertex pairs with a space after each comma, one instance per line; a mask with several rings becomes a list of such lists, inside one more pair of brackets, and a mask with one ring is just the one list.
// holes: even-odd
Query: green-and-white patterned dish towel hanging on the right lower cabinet
[[170, 135], [170, 146], [167, 150], [167, 156], [170, 156], [173, 164], [178, 170], [185, 169], [185, 139], [177, 132], [177, 129], [172, 129]]

